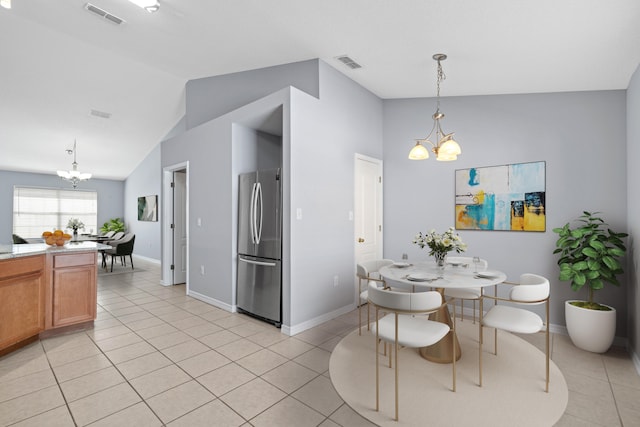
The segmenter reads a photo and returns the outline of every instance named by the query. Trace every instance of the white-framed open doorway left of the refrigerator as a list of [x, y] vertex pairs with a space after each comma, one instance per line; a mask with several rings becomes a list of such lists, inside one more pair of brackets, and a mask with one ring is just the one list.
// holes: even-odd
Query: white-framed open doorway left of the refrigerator
[[163, 169], [162, 284], [189, 294], [189, 165]]

